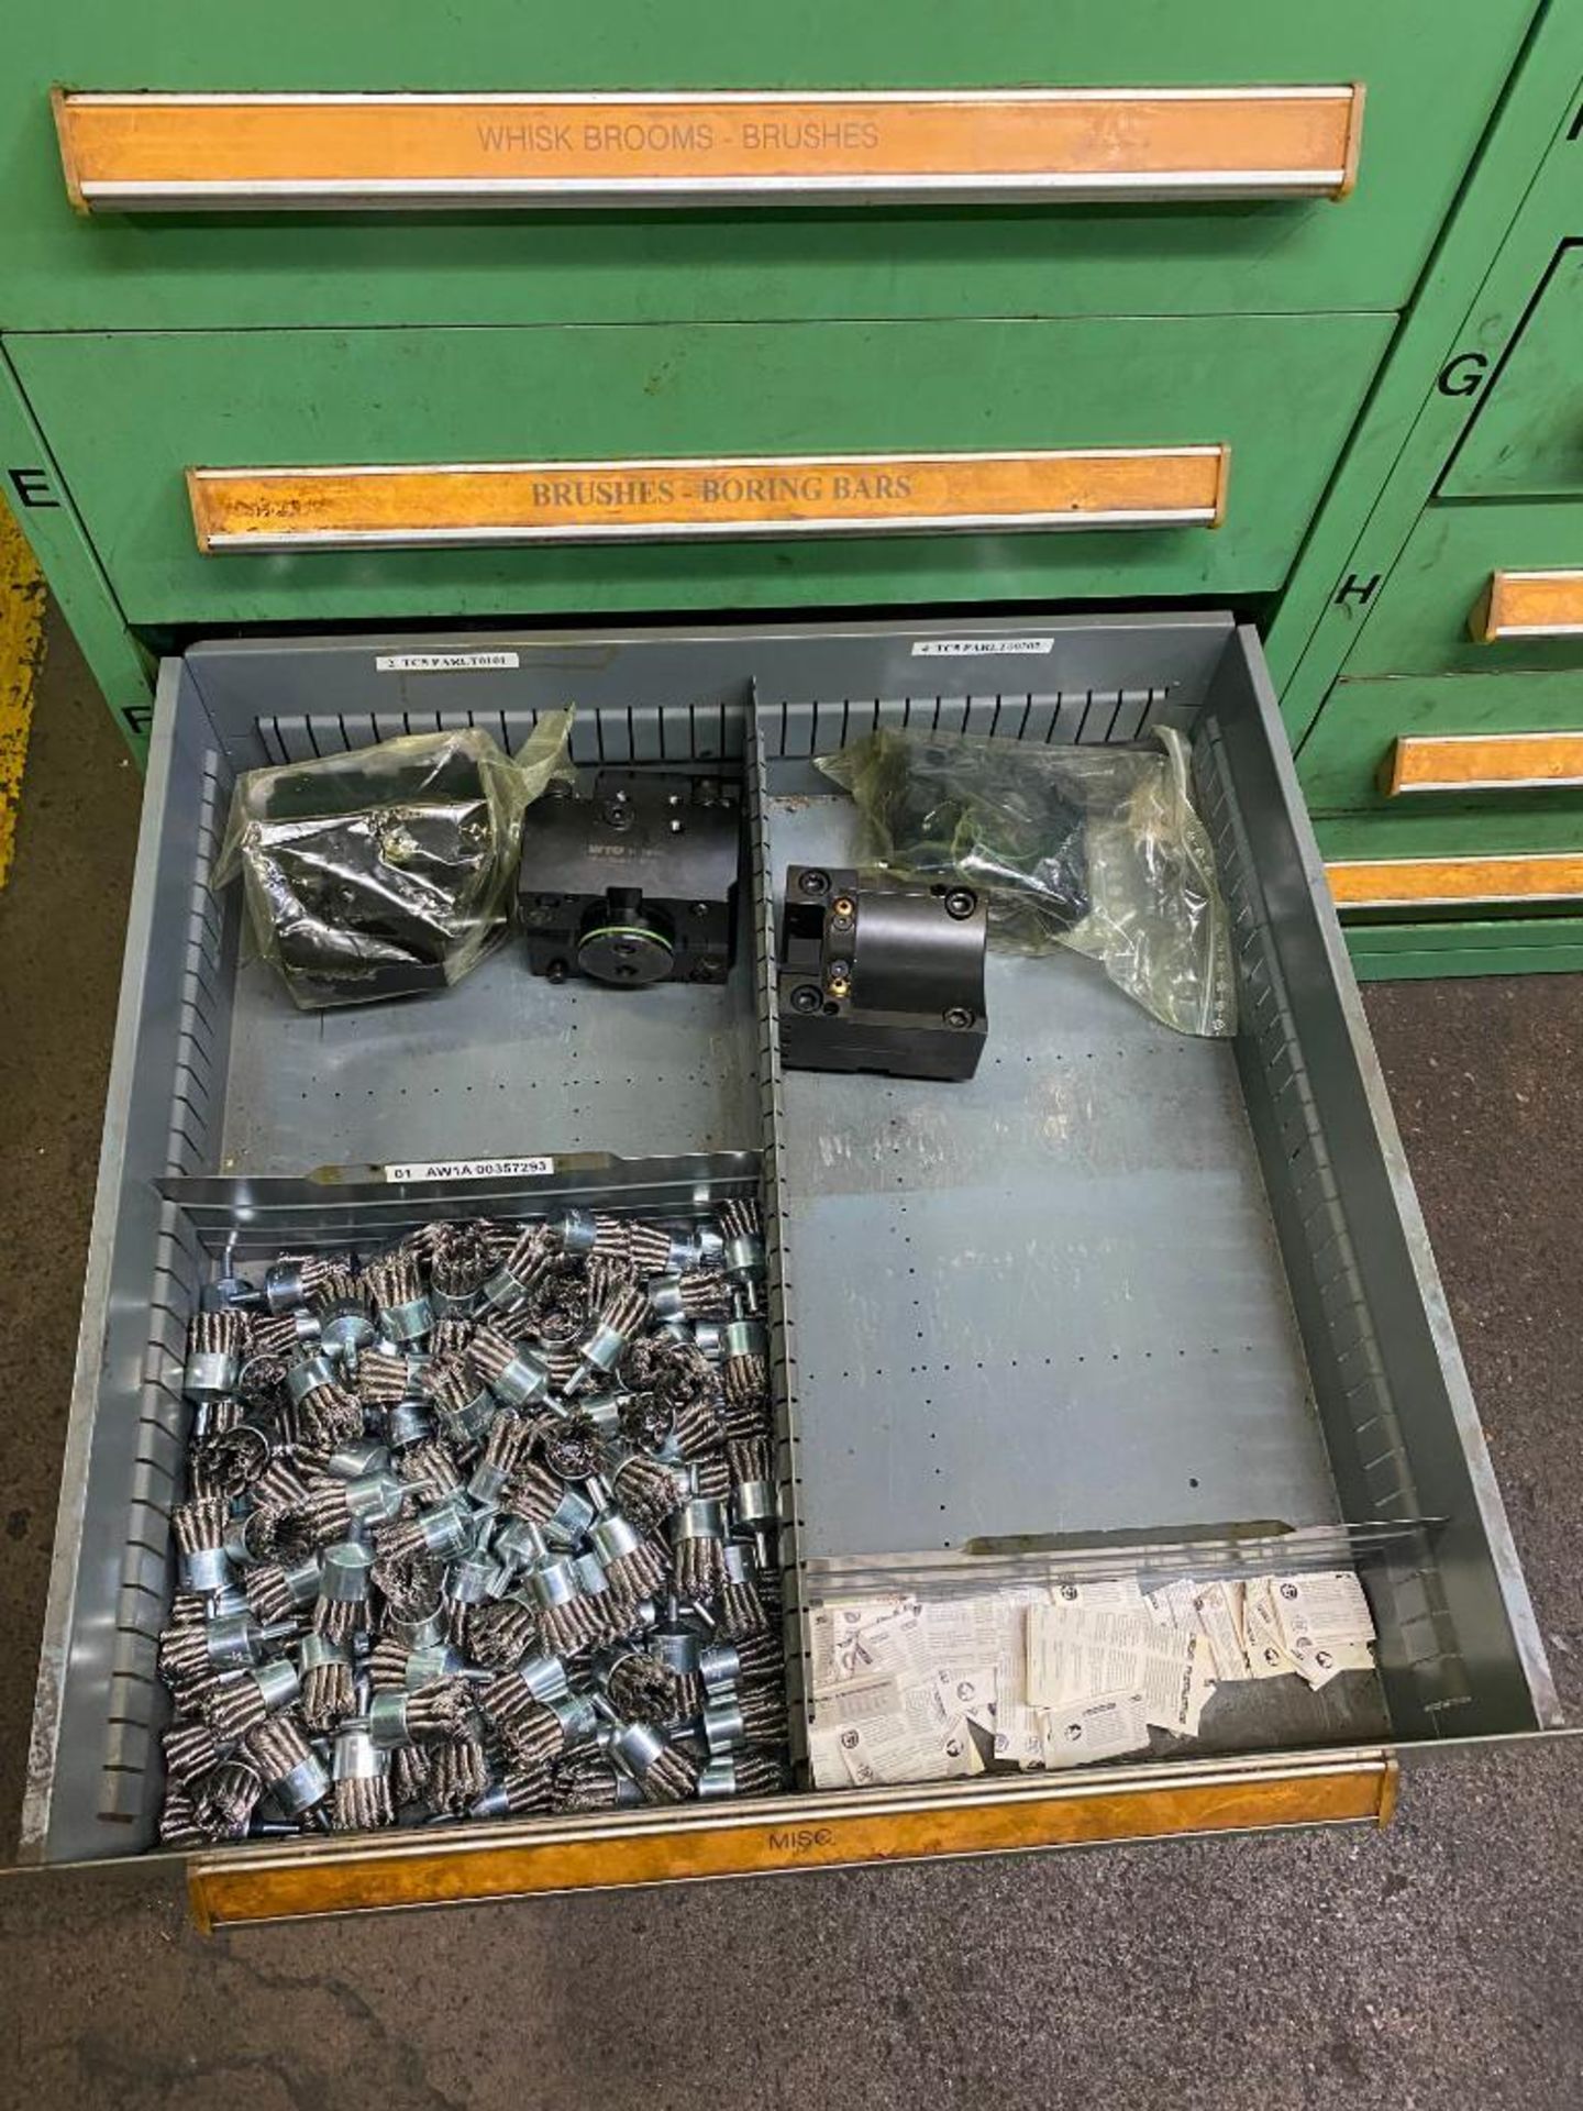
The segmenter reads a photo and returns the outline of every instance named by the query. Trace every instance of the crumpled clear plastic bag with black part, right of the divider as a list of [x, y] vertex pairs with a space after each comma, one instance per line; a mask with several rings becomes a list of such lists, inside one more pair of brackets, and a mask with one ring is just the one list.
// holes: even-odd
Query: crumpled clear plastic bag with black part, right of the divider
[[998, 946], [1070, 946], [1165, 1026], [1237, 1032], [1226, 906], [1174, 728], [1036, 747], [880, 726], [819, 768], [857, 800], [867, 863], [984, 887]]

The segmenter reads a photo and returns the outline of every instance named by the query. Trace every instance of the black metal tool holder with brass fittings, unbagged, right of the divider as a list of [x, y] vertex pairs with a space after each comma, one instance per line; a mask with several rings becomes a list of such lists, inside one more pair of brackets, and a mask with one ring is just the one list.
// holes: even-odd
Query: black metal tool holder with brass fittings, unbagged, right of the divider
[[781, 910], [781, 1060], [791, 1070], [969, 1079], [988, 1037], [988, 901], [789, 866]]

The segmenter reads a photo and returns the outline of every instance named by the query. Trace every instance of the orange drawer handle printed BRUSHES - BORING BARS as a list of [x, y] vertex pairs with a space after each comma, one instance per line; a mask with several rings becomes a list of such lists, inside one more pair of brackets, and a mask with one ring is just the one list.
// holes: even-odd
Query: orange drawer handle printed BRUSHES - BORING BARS
[[1231, 448], [190, 469], [201, 551], [1216, 528]]

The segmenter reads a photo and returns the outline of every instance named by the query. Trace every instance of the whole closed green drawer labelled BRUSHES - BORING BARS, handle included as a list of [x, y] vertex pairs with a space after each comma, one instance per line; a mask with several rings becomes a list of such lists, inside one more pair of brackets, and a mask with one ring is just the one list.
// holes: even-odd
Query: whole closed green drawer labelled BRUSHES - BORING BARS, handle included
[[[131, 623], [302, 623], [1266, 591], [1285, 576], [1387, 336], [1374, 317], [1247, 317], [188, 331], [15, 338], [8, 350]], [[872, 477], [859, 464], [838, 517], [800, 486], [808, 458], [1024, 450], [1110, 458], [1100, 483], [1041, 481], [1032, 513], [984, 462], [943, 502], [939, 464], [922, 464], [905, 492], [895, 462], [872, 464]], [[1127, 450], [1133, 467], [1110, 450]], [[1180, 467], [1180, 450], [1207, 454], [1161, 486], [1161, 464], [1176, 454]], [[728, 496], [705, 502], [697, 464], [720, 458], [726, 471], [709, 488]], [[382, 479], [376, 532], [355, 534], [378, 551], [312, 547], [323, 477], [285, 490], [276, 477], [264, 498], [241, 492], [230, 524], [247, 526], [247, 507], [258, 524], [266, 507], [264, 524], [279, 530], [268, 555], [247, 534], [198, 547], [190, 469], [399, 464], [431, 475]], [[504, 498], [498, 475], [462, 490], [450, 473], [492, 464], [532, 473]], [[1123, 483], [1136, 502], [1112, 502]], [[521, 505], [538, 488], [549, 492], [540, 528], [591, 524], [606, 547], [559, 536], [500, 547], [521, 540]], [[502, 517], [507, 502], [519, 511]], [[1045, 517], [1087, 511], [1123, 526], [1007, 532], [1038, 519], [1041, 505]], [[665, 517], [635, 519], [646, 507]], [[1216, 515], [1220, 526], [1207, 526]], [[203, 519], [211, 530], [207, 509]], [[941, 519], [948, 532], [924, 532]], [[1150, 519], [1167, 526], [1125, 526]], [[851, 538], [891, 521], [899, 534]], [[844, 532], [823, 532], [832, 526]]]

